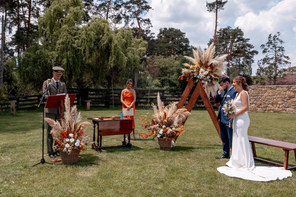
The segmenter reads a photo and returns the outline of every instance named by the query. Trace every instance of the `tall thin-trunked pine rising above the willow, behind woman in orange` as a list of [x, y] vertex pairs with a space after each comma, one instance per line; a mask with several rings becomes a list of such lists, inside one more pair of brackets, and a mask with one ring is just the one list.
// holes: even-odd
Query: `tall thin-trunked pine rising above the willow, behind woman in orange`
[[[138, 39], [140, 39], [142, 35], [142, 28], [149, 29], [150, 27], [152, 27], [150, 19], [142, 17], [143, 15], [147, 14], [147, 12], [149, 12], [149, 10], [152, 8], [148, 5], [148, 2], [145, 0], [129, 0], [127, 2], [124, 2], [122, 5], [125, 9], [125, 25], [128, 25], [131, 22], [130, 25], [134, 26], [136, 20], [139, 28]], [[135, 69], [135, 89], [137, 89], [137, 86], [138, 68]]]

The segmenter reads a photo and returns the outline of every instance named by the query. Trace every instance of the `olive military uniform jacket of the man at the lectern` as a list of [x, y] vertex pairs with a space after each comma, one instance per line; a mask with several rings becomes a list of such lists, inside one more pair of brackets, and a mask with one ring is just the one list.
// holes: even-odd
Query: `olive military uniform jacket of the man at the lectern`
[[[55, 82], [53, 81], [53, 78], [47, 79], [45, 82], [43, 82], [43, 93], [47, 89], [47, 81], [48, 81], [48, 83], [51, 83], [51, 86], [49, 88], [50, 96], [57, 95], [57, 94], [63, 94], [63, 93], [67, 94], [66, 84], [60, 80], [59, 81], [59, 89], [58, 89], [56, 87]], [[48, 91], [46, 92], [44, 98], [47, 100]], [[45, 113], [51, 113], [51, 114], [58, 114], [58, 112], [59, 112], [61, 114], [60, 107], [45, 108], [44, 112]]]

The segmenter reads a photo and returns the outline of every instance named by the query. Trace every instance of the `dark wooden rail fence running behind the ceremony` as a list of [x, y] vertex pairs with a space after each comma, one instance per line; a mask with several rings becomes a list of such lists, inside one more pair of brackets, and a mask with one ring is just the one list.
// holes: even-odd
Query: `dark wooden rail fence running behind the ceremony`
[[[76, 94], [75, 104], [80, 107], [86, 106], [86, 101], [91, 101], [90, 107], [104, 107], [109, 108], [114, 106], [121, 106], [120, 94], [121, 89], [88, 89], [88, 88], [68, 88], [68, 94]], [[172, 102], [178, 102], [182, 93], [176, 92], [176, 90], [158, 90], [158, 89], [138, 89], [136, 90], [137, 100], [135, 105], [138, 107], [149, 106], [151, 103], [156, 104], [157, 93], [159, 92], [161, 100], [167, 105]], [[148, 97], [149, 94], [149, 97]], [[191, 95], [190, 95], [191, 96]], [[189, 100], [188, 97], [187, 101]], [[34, 109], [37, 108], [42, 95], [31, 95], [31, 96], [14, 96], [9, 97], [5, 103], [0, 103], [1, 110], [10, 110], [10, 101], [15, 101], [16, 111], [23, 109]], [[216, 108], [213, 99], [211, 103]], [[196, 107], [204, 107], [204, 103], [199, 99], [195, 103]]]

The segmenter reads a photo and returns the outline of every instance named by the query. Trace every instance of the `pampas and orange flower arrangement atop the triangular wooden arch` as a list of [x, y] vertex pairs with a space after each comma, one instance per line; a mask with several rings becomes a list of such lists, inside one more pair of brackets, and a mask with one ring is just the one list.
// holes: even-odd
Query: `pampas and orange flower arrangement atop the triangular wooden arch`
[[219, 76], [224, 74], [227, 64], [227, 62], [223, 62], [227, 54], [213, 58], [214, 53], [214, 43], [207, 50], [204, 50], [203, 53], [201, 53], [199, 48], [193, 50], [194, 58], [185, 56], [193, 65], [184, 63], [183, 65], [187, 68], [183, 68], [182, 75], [179, 76], [179, 79], [183, 80], [183, 78], [186, 78], [186, 81], [189, 81], [191, 78], [196, 78], [196, 82], [201, 80], [208, 97], [210, 94], [214, 97], [220, 88]]

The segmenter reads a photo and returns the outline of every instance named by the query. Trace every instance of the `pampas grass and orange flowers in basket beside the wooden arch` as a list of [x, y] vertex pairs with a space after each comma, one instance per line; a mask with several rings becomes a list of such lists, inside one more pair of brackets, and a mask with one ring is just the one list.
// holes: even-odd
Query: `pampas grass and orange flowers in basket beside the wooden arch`
[[154, 111], [152, 118], [147, 117], [149, 113], [139, 117], [143, 121], [142, 127], [148, 131], [148, 133], [139, 133], [139, 136], [171, 140], [174, 145], [174, 140], [185, 131], [183, 122], [190, 115], [190, 112], [184, 108], [177, 110], [177, 102], [165, 106], [160, 100], [159, 92], [157, 94], [157, 105], [152, 103], [152, 108]]

